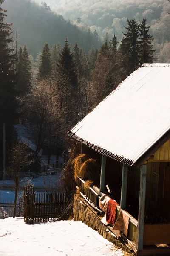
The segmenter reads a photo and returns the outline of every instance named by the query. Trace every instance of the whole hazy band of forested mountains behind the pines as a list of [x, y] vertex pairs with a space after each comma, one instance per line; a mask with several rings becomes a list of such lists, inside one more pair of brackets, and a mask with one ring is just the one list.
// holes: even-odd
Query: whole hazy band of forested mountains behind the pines
[[[120, 42], [127, 19], [135, 18], [140, 23], [147, 18], [150, 34], [155, 38], [155, 54], [161, 51], [159, 61], [167, 62], [165, 52], [170, 51], [170, 2], [167, 0], [46, 0], [51, 11], [44, 10], [41, 2], [6, 0], [4, 3], [4, 8], [9, 9], [7, 21], [14, 24], [13, 30], [17, 27], [21, 45], [26, 42], [34, 58], [45, 42], [51, 47], [57, 43], [63, 45], [66, 36], [71, 47], [77, 41], [87, 51], [92, 45], [99, 49], [106, 32], [109, 38], [115, 33]], [[93, 35], [94, 32], [99, 38]]]

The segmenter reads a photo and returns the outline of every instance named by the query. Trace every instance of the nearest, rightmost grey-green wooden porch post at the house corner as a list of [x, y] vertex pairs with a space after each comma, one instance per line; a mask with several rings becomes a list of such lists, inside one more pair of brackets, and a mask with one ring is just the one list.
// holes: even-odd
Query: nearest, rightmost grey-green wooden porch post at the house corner
[[140, 168], [139, 214], [138, 214], [138, 233], [137, 233], [137, 249], [138, 250], [143, 249], [146, 175], [147, 175], [147, 164], [143, 164]]

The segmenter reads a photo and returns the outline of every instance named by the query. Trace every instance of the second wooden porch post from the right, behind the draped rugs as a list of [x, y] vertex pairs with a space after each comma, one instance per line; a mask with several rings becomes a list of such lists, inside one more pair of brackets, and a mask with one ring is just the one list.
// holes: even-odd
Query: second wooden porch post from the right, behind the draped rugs
[[125, 163], [123, 163], [123, 166], [122, 166], [122, 189], [121, 189], [121, 199], [120, 199], [120, 210], [126, 208], [127, 173], [128, 173], [128, 166]]

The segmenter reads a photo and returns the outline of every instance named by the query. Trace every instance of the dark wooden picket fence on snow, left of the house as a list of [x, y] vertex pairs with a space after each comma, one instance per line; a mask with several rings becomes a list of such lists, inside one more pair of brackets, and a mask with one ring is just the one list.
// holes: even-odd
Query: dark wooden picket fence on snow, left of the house
[[65, 193], [34, 193], [24, 189], [24, 221], [35, 223], [57, 218], [67, 205]]

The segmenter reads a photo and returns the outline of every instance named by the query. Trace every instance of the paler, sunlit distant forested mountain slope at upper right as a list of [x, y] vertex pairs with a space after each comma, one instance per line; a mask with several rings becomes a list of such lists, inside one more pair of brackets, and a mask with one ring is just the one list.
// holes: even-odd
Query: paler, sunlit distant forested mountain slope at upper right
[[[41, 0], [36, 0], [37, 2]], [[140, 22], [147, 18], [151, 24], [150, 33], [156, 44], [170, 40], [170, 3], [167, 0], [46, 0], [51, 9], [65, 19], [77, 20], [86, 24], [100, 36], [108, 32], [110, 38], [115, 33], [120, 41], [127, 18]], [[156, 48], [158, 48], [156, 46]]]

